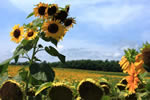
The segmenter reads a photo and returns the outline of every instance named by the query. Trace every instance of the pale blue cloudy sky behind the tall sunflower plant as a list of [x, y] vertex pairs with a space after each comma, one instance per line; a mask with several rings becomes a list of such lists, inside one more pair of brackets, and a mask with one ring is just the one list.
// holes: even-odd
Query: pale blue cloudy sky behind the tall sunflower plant
[[[150, 42], [149, 0], [1, 0], [0, 62], [11, 57], [18, 45], [10, 41], [12, 27], [30, 22], [33, 18], [25, 18], [40, 1], [61, 7], [71, 5], [70, 16], [76, 17], [77, 24], [57, 48], [67, 60], [120, 60], [124, 49]], [[38, 57], [58, 61], [46, 53], [39, 53]]]

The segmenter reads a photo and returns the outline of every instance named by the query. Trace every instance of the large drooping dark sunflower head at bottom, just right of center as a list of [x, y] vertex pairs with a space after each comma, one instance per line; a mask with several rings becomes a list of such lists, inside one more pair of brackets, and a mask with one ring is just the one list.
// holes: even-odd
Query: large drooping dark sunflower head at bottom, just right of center
[[79, 83], [77, 90], [80, 97], [84, 100], [100, 100], [104, 94], [100, 85], [89, 78], [82, 80]]

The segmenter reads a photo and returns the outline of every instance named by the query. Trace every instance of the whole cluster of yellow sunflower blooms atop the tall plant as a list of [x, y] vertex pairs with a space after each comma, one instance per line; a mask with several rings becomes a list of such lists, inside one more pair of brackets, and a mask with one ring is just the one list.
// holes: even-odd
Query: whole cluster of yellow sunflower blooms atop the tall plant
[[[22, 27], [19, 27], [19, 24], [15, 25], [12, 32], [10, 32], [11, 40], [16, 43], [19, 43], [23, 37], [26, 40], [32, 40], [42, 31], [45, 33], [45, 37], [59, 41], [64, 37], [66, 32], [73, 27], [73, 24], [76, 23], [74, 18], [68, 17], [69, 8], [69, 5], [66, 5], [65, 8], [60, 8], [57, 4], [45, 4], [40, 2], [36, 5], [29, 17], [33, 14], [35, 17], [39, 17], [38, 20], [41, 21], [41, 27], [38, 27], [34, 21], [27, 25], [24, 24]], [[26, 29], [24, 29], [24, 27]]]

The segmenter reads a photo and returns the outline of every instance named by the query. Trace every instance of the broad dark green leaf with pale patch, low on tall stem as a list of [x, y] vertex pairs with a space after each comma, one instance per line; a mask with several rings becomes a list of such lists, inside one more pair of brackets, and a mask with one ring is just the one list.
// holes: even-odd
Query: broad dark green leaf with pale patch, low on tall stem
[[29, 69], [32, 77], [37, 80], [41, 80], [43, 82], [52, 82], [54, 80], [55, 73], [46, 63], [34, 63], [29, 66]]

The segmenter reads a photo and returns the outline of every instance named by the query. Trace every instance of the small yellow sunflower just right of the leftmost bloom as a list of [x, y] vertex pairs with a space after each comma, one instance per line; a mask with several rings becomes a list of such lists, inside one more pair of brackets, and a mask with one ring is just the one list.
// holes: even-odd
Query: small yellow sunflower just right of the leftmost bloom
[[25, 39], [26, 40], [32, 40], [37, 36], [38, 32], [35, 32], [32, 29], [29, 29], [26, 34], [25, 34]]

